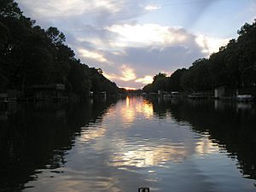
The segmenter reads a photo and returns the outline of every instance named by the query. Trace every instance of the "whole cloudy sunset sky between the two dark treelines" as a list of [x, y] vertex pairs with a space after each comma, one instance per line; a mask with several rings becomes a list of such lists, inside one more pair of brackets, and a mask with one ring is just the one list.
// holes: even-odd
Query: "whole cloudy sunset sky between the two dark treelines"
[[16, 0], [45, 29], [57, 27], [89, 67], [119, 87], [218, 52], [256, 19], [256, 0]]

